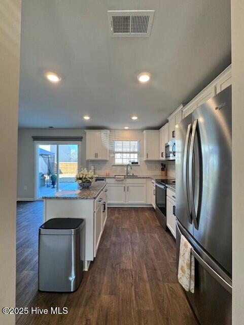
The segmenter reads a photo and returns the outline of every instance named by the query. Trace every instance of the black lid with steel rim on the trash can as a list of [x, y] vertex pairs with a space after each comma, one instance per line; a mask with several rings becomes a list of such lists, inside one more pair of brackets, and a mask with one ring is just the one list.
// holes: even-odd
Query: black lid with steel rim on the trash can
[[39, 233], [43, 235], [74, 235], [83, 228], [84, 219], [79, 218], [52, 218], [43, 223]]

